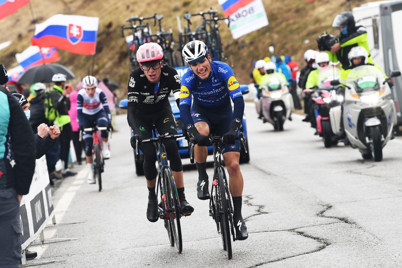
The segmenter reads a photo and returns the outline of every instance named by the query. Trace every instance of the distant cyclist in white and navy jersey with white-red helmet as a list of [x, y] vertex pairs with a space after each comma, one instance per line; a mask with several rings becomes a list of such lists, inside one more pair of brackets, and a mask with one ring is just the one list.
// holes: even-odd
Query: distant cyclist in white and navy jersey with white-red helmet
[[[105, 93], [98, 89], [98, 80], [94, 76], [85, 76], [82, 79], [82, 87], [77, 96], [77, 119], [81, 128], [93, 128], [110, 126], [112, 114]], [[110, 158], [109, 135], [106, 130], [101, 132], [103, 141], [103, 157]], [[92, 174], [92, 132], [84, 132], [82, 135], [85, 143], [86, 163], [88, 165], [88, 183], [95, 183]]]

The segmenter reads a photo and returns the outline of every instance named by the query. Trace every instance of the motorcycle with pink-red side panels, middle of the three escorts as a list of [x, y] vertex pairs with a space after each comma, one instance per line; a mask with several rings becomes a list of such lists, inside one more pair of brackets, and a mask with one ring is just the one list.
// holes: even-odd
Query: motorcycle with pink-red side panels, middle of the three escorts
[[[339, 128], [332, 130], [332, 125], [340, 124], [340, 105], [343, 102], [343, 88], [332, 86], [332, 80], [340, 78], [340, 70], [336, 66], [326, 66], [318, 71], [318, 87], [312, 99], [315, 103], [317, 131], [326, 148], [338, 143]], [[332, 115], [330, 117], [330, 114]]]

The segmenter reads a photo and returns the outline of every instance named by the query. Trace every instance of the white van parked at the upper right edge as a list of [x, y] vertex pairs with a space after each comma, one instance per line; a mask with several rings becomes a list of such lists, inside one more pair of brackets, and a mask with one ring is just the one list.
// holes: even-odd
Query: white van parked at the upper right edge
[[[356, 25], [366, 28], [373, 62], [390, 76], [394, 70], [402, 70], [402, 0], [377, 1], [353, 8]], [[402, 125], [402, 77], [396, 77], [392, 89]]]

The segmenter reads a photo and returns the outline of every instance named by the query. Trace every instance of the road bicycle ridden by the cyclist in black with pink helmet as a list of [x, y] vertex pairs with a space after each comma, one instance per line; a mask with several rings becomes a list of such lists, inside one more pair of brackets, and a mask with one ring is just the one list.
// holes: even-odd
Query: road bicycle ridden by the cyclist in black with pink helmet
[[[161, 203], [158, 205], [159, 218], [164, 220], [164, 226], [168, 232], [170, 245], [176, 248], [178, 253], [183, 250], [183, 240], [181, 236], [180, 226], [180, 200], [176, 189], [176, 183], [172, 174], [172, 169], [168, 165], [164, 141], [175, 140], [183, 137], [183, 134], [168, 134], [156, 136], [155, 126], [152, 126], [152, 133], [155, 138], [142, 140], [143, 143], [154, 143], [158, 156], [158, 187], [156, 188], [156, 196], [160, 191]], [[138, 136], [135, 135], [135, 160], [139, 157]], [[184, 215], [186, 216], [186, 215]]]

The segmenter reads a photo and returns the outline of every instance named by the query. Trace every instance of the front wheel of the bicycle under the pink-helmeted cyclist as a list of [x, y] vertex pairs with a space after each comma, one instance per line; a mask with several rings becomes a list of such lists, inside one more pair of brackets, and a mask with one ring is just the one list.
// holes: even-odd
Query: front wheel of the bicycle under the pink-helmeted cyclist
[[170, 225], [172, 226], [174, 242], [176, 243], [176, 248], [178, 253], [183, 250], [183, 241], [181, 237], [181, 227], [180, 227], [180, 205], [178, 200], [178, 194], [176, 190], [176, 184], [174, 183], [172, 171], [169, 168], [165, 168], [164, 171], [164, 186], [166, 190], [166, 202], [168, 206]]

